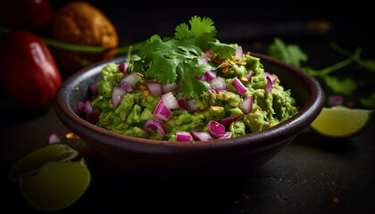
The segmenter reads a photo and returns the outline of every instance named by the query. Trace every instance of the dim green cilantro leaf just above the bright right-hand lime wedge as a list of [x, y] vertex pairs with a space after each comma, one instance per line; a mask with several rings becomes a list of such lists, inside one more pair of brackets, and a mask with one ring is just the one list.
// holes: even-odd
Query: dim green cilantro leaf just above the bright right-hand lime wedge
[[351, 95], [357, 84], [352, 78], [345, 78], [340, 80], [337, 77], [332, 77], [329, 75], [322, 76], [325, 84], [329, 86], [333, 93], [337, 95]]

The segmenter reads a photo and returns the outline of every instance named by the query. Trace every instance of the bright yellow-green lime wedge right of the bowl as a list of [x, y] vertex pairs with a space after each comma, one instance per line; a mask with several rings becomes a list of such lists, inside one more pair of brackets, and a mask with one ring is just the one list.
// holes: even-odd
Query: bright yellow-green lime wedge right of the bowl
[[350, 137], [360, 133], [371, 120], [372, 111], [324, 107], [311, 128], [323, 136]]

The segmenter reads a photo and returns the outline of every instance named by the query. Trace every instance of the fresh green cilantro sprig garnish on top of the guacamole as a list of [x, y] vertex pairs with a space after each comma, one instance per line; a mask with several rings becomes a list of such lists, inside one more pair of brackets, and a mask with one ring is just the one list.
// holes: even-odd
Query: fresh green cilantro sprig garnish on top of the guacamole
[[200, 99], [210, 86], [195, 77], [204, 75], [211, 66], [199, 64], [197, 59], [207, 50], [222, 58], [231, 59], [236, 55], [232, 45], [215, 38], [216, 33], [210, 18], [194, 16], [189, 25], [181, 23], [176, 27], [174, 37], [150, 37], [129, 61], [129, 70], [143, 73], [163, 85], [175, 82], [183, 97]]

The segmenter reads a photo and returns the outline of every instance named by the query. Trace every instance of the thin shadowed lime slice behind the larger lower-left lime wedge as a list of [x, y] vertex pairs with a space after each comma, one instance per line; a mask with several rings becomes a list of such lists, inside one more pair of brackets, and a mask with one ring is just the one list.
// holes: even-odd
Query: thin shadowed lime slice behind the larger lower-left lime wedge
[[48, 161], [70, 161], [78, 155], [79, 152], [67, 144], [47, 144], [15, 162], [7, 177], [15, 182], [22, 176], [36, 173]]

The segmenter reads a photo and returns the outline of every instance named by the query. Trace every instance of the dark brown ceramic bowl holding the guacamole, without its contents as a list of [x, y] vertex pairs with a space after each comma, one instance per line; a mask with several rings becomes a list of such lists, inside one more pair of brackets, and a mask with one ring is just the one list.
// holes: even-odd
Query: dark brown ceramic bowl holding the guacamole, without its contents
[[122, 136], [80, 118], [77, 106], [79, 101], [87, 100], [88, 86], [96, 81], [104, 65], [121, 63], [125, 57], [96, 63], [66, 79], [55, 96], [54, 110], [67, 128], [116, 169], [156, 178], [238, 176], [260, 167], [290, 144], [319, 115], [324, 103], [321, 86], [304, 71], [262, 54], [252, 55], [261, 59], [265, 70], [281, 79], [282, 86], [291, 89], [301, 106], [296, 115], [262, 132], [194, 144], [164, 142]]

